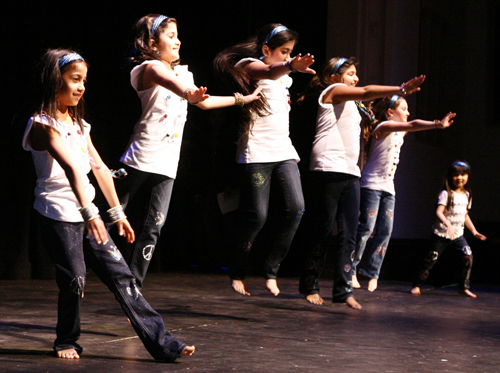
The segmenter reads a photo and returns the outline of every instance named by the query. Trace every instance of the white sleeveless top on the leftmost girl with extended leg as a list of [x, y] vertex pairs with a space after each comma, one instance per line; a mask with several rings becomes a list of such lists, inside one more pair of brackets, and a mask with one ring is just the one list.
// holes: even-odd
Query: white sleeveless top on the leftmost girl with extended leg
[[78, 211], [82, 206], [76, 199], [62, 167], [48, 151], [37, 151], [31, 147], [29, 133], [35, 121], [52, 127], [59, 132], [66, 150], [80, 170], [87, 197], [92, 201], [95, 197], [95, 189], [87, 177], [91, 170], [87, 147], [90, 124], [83, 122], [82, 133], [80, 126], [76, 123], [70, 125], [38, 115], [30, 118], [23, 136], [23, 148], [31, 151], [37, 174], [35, 210], [50, 219], [65, 222], [83, 222], [82, 215]]

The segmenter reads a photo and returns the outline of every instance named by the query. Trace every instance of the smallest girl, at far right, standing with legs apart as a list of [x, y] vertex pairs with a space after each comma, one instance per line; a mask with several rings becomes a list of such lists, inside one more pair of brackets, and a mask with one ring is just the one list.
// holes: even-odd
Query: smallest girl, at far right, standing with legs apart
[[447, 248], [459, 250], [463, 255], [462, 280], [459, 284], [459, 294], [476, 298], [470, 289], [470, 273], [472, 269], [472, 250], [464, 238], [464, 225], [474, 237], [481, 241], [486, 236], [479, 233], [469, 216], [472, 206], [472, 191], [469, 185], [470, 165], [465, 161], [456, 161], [448, 169], [439, 193], [436, 209], [436, 222], [432, 226], [433, 235], [431, 248], [424, 258], [421, 270], [413, 283], [411, 293], [420, 295], [420, 288], [424, 284], [429, 271], [436, 264], [439, 256]]

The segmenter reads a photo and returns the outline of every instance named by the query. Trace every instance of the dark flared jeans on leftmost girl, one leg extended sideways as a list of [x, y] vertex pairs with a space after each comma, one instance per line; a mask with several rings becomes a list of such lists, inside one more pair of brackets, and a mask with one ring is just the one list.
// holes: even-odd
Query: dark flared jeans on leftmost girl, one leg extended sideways
[[84, 223], [67, 223], [39, 215], [42, 239], [56, 268], [59, 287], [57, 338], [54, 350], [83, 349], [80, 337], [80, 302], [87, 267], [114, 294], [149, 353], [157, 360], [174, 361], [186, 344], [172, 337], [162, 317], [149, 305], [110, 237], [99, 245], [86, 235]]

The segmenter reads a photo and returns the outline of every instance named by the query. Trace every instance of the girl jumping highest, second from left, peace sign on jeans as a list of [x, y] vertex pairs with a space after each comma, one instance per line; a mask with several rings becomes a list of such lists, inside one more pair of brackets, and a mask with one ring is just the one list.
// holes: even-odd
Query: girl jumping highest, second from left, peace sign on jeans
[[258, 100], [260, 89], [248, 95], [209, 96], [196, 87], [187, 66], [179, 65], [181, 42], [175, 18], [159, 14], [142, 17], [135, 26], [131, 84], [142, 104], [142, 115], [121, 162], [128, 177], [118, 184], [124, 208], [145, 191], [145, 209], [129, 261], [142, 288], [161, 229], [165, 224], [181, 150], [188, 103], [201, 109], [244, 106]]

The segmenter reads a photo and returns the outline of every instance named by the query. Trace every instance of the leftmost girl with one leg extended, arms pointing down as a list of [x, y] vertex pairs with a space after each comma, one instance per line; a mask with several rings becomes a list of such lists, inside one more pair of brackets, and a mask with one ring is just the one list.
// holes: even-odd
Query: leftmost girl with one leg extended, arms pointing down
[[47, 51], [42, 62], [42, 104], [28, 122], [23, 148], [33, 155], [37, 173], [34, 207], [59, 287], [54, 351], [63, 359], [79, 359], [82, 354], [77, 343], [80, 303], [91, 268], [113, 292], [155, 359], [172, 362], [193, 354], [195, 347], [174, 338], [161, 315], [144, 299], [92, 203], [95, 190], [87, 177], [90, 170], [111, 207], [110, 220], [120, 235], [134, 241], [111, 172], [92, 143], [90, 124], [83, 119], [87, 63], [66, 49]]

